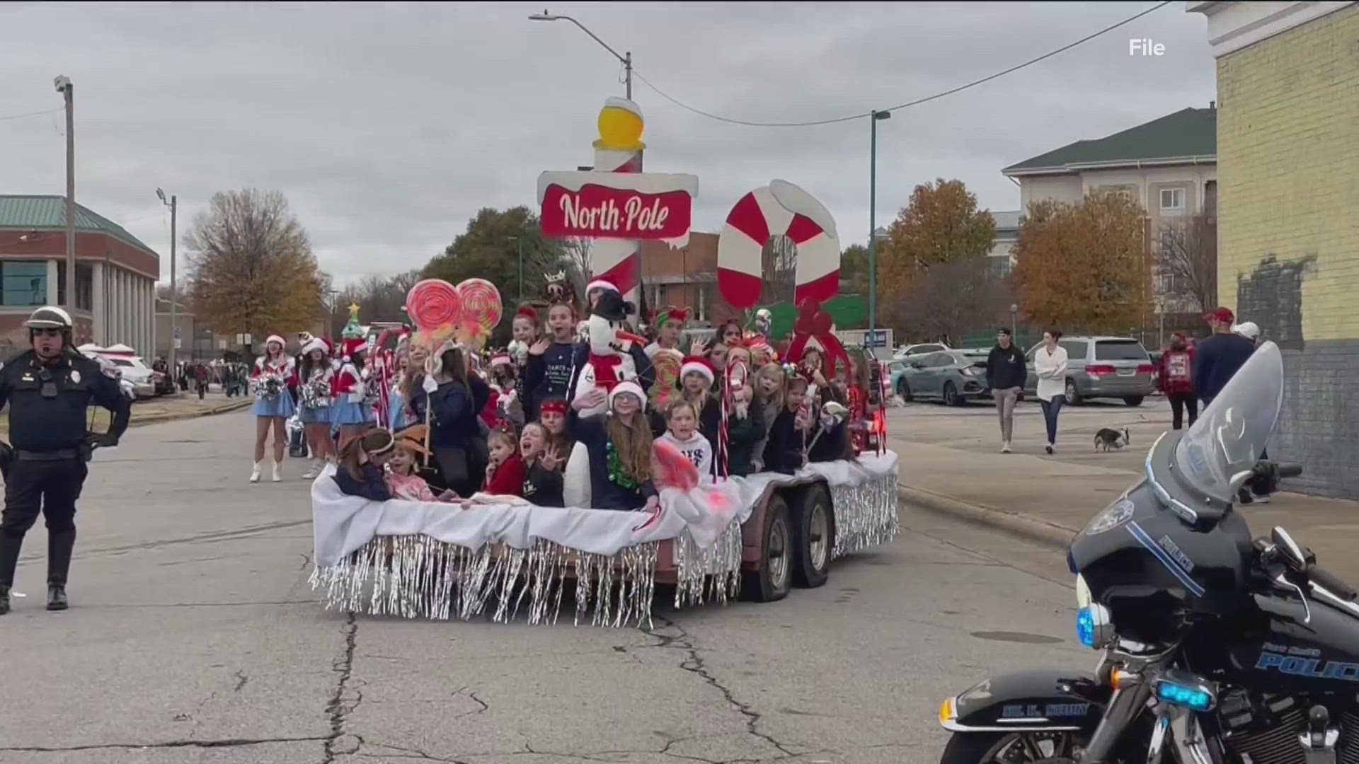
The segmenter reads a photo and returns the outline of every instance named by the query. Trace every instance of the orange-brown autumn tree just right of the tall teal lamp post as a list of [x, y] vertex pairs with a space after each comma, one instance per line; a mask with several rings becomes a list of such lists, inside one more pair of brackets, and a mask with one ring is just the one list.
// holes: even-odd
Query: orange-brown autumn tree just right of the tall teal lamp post
[[977, 196], [962, 181], [920, 184], [878, 251], [878, 291], [902, 294], [934, 265], [984, 256], [995, 235], [995, 219], [977, 209]]

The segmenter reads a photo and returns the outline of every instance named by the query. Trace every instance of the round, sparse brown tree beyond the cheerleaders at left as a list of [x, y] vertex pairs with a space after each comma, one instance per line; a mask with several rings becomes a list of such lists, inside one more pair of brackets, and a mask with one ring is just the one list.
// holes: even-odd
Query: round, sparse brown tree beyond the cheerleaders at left
[[183, 246], [185, 294], [213, 332], [288, 336], [325, 315], [311, 242], [280, 192], [213, 194]]

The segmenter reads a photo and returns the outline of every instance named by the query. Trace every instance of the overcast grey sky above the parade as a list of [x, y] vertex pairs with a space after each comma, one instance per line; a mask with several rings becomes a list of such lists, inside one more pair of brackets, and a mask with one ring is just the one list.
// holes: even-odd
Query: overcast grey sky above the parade
[[[671, 98], [733, 120], [883, 109], [1026, 61], [1155, 3], [563, 3]], [[56, 75], [76, 86], [76, 198], [162, 253], [223, 189], [287, 193], [322, 268], [348, 281], [423, 265], [481, 207], [534, 203], [590, 164], [621, 67], [542, 5], [0, 4], [0, 193], [65, 189]], [[1128, 39], [1165, 44], [1132, 57]], [[1215, 98], [1204, 18], [1170, 3], [1072, 50], [879, 122], [885, 224], [911, 189], [961, 178], [1015, 209], [1006, 164]], [[764, 128], [688, 111], [636, 82], [647, 167], [700, 179], [696, 230], [772, 178], [868, 231], [866, 120]], [[50, 113], [7, 118], [33, 111]]]

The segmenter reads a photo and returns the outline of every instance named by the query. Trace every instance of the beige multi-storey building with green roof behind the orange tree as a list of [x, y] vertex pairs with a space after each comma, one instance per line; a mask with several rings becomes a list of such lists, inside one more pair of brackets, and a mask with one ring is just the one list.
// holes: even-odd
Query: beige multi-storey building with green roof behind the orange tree
[[[1102, 139], [1079, 140], [1011, 164], [1003, 173], [1019, 184], [1023, 209], [1042, 200], [1076, 203], [1094, 192], [1127, 193], [1147, 211], [1155, 257], [1162, 235], [1215, 204], [1216, 103], [1181, 109]], [[1195, 298], [1181, 294], [1171, 281], [1158, 279], [1154, 287], [1163, 313], [1208, 307], [1196, 305]]]

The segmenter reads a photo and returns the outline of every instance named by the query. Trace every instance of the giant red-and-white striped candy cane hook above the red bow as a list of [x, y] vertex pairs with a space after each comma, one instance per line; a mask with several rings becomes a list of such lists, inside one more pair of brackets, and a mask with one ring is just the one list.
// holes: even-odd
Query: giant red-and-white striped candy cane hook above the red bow
[[786, 235], [798, 245], [792, 302], [825, 302], [840, 294], [840, 238], [830, 211], [787, 181], [771, 181], [737, 201], [718, 237], [718, 290], [733, 307], [760, 303], [764, 246]]

